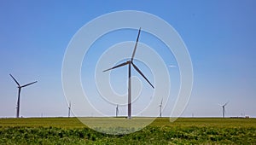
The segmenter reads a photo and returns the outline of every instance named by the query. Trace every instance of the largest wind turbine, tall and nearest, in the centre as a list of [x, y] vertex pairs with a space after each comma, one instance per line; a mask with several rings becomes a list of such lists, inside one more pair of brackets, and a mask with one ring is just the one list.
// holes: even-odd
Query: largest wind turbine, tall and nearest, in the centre
[[107, 71], [112, 70], [114, 68], [123, 67], [125, 65], [128, 65], [128, 119], [131, 119], [131, 66], [134, 67], [135, 70], [137, 71], [137, 73], [140, 73], [143, 76], [143, 78], [146, 79], [148, 84], [150, 84], [151, 87], [154, 89], [154, 86], [149, 82], [148, 78], [146, 78], [144, 76], [144, 74], [142, 73], [142, 71], [140, 71], [139, 68], [133, 63], [133, 58], [134, 58], [134, 55], [135, 55], [135, 52], [136, 52], [136, 49], [137, 49], [137, 42], [138, 42], [138, 39], [140, 37], [140, 33], [141, 33], [141, 28], [139, 29], [139, 32], [137, 34], [137, 41], [136, 41], [135, 47], [133, 49], [133, 53], [131, 55], [131, 60], [126, 61], [124, 63], [121, 63], [121, 64], [119, 64], [115, 67], [108, 68], [107, 70], [103, 71], [103, 72], [107, 72]]

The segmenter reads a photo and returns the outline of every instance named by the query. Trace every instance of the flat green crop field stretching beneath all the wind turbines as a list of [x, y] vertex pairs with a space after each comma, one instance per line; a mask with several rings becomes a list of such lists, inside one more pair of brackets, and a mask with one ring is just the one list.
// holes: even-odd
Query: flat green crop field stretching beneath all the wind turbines
[[[116, 130], [124, 118], [84, 118]], [[146, 121], [149, 118], [134, 118]], [[117, 122], [111, 126], [108, 121]], [[134, 126], [135, 130], [136, 127]], [[133, 129], [133, 128], [132, 128]], [[125, 130], [119, 128], [119, 130]], [[256, 119], [155, 119], [131, 134], [103, 134], [76, 118], [0, 119], [0, 144], [256, 144]]]

